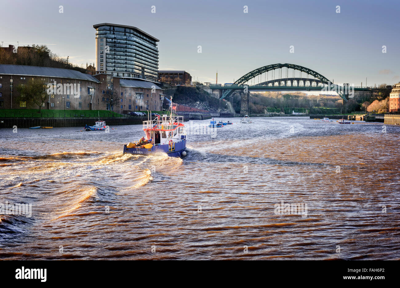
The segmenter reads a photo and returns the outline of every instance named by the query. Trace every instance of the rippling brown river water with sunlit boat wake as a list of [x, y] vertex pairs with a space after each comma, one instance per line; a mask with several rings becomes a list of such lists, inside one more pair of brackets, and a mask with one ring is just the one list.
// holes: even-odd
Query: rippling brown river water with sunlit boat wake
[[0, 205], [32, 205], [0, 258], [400, 259], [400, 127], [233, 121], [186, 122], [184, 159], [123, 155], [141, 125], [0, 129]]

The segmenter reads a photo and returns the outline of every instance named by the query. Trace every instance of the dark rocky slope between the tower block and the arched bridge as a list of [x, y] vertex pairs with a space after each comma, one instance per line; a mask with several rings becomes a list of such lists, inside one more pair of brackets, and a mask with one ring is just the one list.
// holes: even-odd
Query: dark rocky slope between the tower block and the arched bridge
[[165, 89], [164, 94], [174, 103], [208, 110], [212, 112], [228, 112], [226, 101], [222, 101], [204, 91], [200, 87], [177, 86], [176, 88]]

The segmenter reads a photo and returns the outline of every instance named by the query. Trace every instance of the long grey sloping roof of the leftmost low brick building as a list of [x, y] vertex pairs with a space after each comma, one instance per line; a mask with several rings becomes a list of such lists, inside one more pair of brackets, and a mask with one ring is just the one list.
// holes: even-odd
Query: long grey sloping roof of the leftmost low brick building
[[79, 79], [79, 80], [86, 80], [86, 81], [93, 81], [100, 83], [99, 80], [97, 80], [90, 74], [85, 74], [76, 70], [50, 68], [50, 67], [0, 64], [0, 74], [58, 77], [58, 78]]

